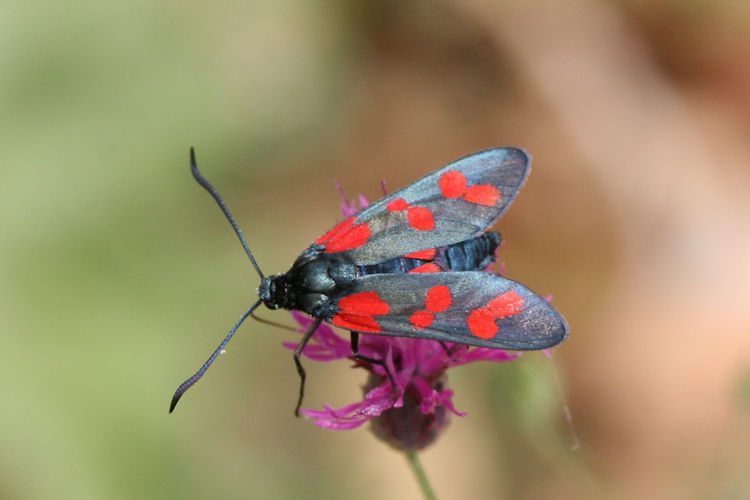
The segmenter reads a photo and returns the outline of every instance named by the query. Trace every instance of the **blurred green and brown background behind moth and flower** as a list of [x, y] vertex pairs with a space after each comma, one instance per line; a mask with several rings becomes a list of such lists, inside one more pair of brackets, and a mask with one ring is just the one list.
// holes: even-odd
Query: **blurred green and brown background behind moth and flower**
[[[284, 330], [247, 323], [167, 414], [258, 284], [191, 145], [266, 273], [334, 180], [525, 147], [501, 258], [571, 337], [451, 373], [438, 495], [750, 497], [749, 28], [731, 1], [4, 2], [0, 497], [419, 498], [365, 429], [292, 416]], [[360, 396], [307, 366], [307, 407]]]

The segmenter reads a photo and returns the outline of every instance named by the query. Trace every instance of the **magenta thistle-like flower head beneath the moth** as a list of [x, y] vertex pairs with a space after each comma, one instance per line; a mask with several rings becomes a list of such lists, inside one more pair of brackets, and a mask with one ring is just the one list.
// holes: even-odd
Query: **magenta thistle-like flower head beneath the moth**
[[[341, 211], [344, 217], [349, 217], [358, 207], [349, 203], [340, 185], [337, 187], [343, 199]], [[366, 207], [369, 203], [360, 196], [359, 204]], [[314, 321], [297, 311], [292, 311], [292, 316], [299, 323], [300, 332]], [[283, 345], [297, 348], [293, 342]], [[383, 361], [393, 383], [382, 365], [354, 358], [349, 339], [340, 337], [326, 324], [318, 327], [302, 352], [304, 356], [315, 361], [351, 359], [356, 367], [367, 370], [369, 376], [362, 401], [342, 408], [326, 405], [322, 410], [300, 412], [324, 429], [354, 429], [369, 421], [378, 437], [404, 450], [421, 449], [434, 441], [447, 425], [450, 413], [465, 415], [453, 406], [453, 391], [447, 388], [446, 381], [449, 368], [474, 361], [511, 361], [520, 355], [434, 340], [368, 334], [360, 336], [359, 352]]]

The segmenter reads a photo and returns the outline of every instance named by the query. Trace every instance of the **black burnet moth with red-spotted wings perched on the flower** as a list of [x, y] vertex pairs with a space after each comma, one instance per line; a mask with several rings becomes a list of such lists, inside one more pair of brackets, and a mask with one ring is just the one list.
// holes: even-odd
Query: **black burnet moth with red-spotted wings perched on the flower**
[[266, 277], [217, 191], [193, 176], [216, 200], [261, 278], [258, 300], [235, 323], [204, 365], [175, 392], [169, 411], [224, 350], [261, 303], [315, 318], [294, 352], [300, 356], [322, 321], [359, 334], [415, 337], [496, 349], [536, 350], [562, 342], [563, 317], [525, 286], [486, 271], [500, 234], [485, 232], [508, 208], [529, 173], [519, 148], [488, 149], [450, 163], [363, 208], [315, 240], [284, 274]]

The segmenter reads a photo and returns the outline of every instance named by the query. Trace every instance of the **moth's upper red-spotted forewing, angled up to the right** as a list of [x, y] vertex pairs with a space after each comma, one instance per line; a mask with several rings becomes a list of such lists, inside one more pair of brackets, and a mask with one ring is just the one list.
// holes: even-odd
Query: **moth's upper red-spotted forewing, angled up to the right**
[[474, 153], [370, 205], [316, 243], [366, 265], [467, 240], [508, 208], [530, 162], [519, 148]]

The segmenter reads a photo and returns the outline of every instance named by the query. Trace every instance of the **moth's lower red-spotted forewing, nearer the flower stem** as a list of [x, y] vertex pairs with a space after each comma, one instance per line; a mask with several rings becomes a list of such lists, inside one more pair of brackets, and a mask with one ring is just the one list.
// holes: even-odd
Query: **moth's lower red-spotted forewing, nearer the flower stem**
[[479, 271], [365, 276], [334, 302], [330, 322], [364, 333], [518, 350], [552, 347], [568, 334], [546, 300]]

